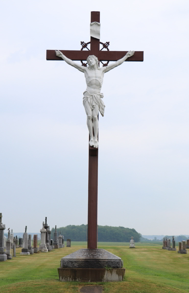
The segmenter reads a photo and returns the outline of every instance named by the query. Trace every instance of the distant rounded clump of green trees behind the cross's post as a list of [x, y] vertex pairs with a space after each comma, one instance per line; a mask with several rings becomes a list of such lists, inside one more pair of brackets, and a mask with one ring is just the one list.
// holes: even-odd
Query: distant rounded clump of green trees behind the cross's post
[[[57, 229], [58, 235], [64, 236], [64, 239], [71, 241], [87, 241], [87, 225], [69, 225]], [[54, 228], [51, 229], [51, 239], [53, 239]], [[135, 242], [139, 242], [141, 234], [135, 229], [124, 227], [98, 226], [98, 241], [99, 242], [129, 242], [133, 236]]]

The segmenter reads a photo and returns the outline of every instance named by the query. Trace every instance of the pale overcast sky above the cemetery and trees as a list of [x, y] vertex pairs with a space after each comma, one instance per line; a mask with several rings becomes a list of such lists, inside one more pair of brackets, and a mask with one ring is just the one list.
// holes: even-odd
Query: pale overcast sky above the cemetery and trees
[[0, 212], [15, 232], [87, 224], [84, 74], [47, 49], [144, 51], [104, 76], [98, 224], [189, 234], [189, 1], [0, 3]]

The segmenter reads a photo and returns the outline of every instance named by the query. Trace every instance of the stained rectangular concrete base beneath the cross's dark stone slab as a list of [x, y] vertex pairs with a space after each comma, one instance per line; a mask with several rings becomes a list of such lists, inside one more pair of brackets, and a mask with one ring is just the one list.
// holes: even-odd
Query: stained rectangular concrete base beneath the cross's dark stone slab
[[122, 281], [125, 269], [70, 269], [58, 268], [61, 282], [118, 282]]

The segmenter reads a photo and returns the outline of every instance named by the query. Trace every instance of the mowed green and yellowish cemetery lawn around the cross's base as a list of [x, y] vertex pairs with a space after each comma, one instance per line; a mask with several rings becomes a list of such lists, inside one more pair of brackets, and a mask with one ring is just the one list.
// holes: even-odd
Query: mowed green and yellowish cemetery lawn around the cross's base
[[[119, 257], [126, 268], [123, 282], [100, 283], [104, 293], [184, 293], [189, 292], [189, 254], [165, 251], [159, 245], [106, 246]], [[76, 293], [88, 283], [60, 282], [57, 268], [60, 259], [86, 246], [72, 246], [47, 253], [20, 255], [0, 262], [0, 292], [2, 293]], [[177, 248], [178, 249], [178, 248]], [[99, 283], [93, 283], [98, 284]]]

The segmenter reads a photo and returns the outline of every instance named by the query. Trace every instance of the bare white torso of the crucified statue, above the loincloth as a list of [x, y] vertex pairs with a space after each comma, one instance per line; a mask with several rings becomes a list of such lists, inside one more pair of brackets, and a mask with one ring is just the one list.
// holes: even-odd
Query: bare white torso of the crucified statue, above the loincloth
[[86, 90], [90, 94], [100, 93], [104, 78], [104, 71], [102, 70], [102, 68], [95, 70], [90, 70], [89, 68], [86, 68], [84, 73], [87, 84]]

